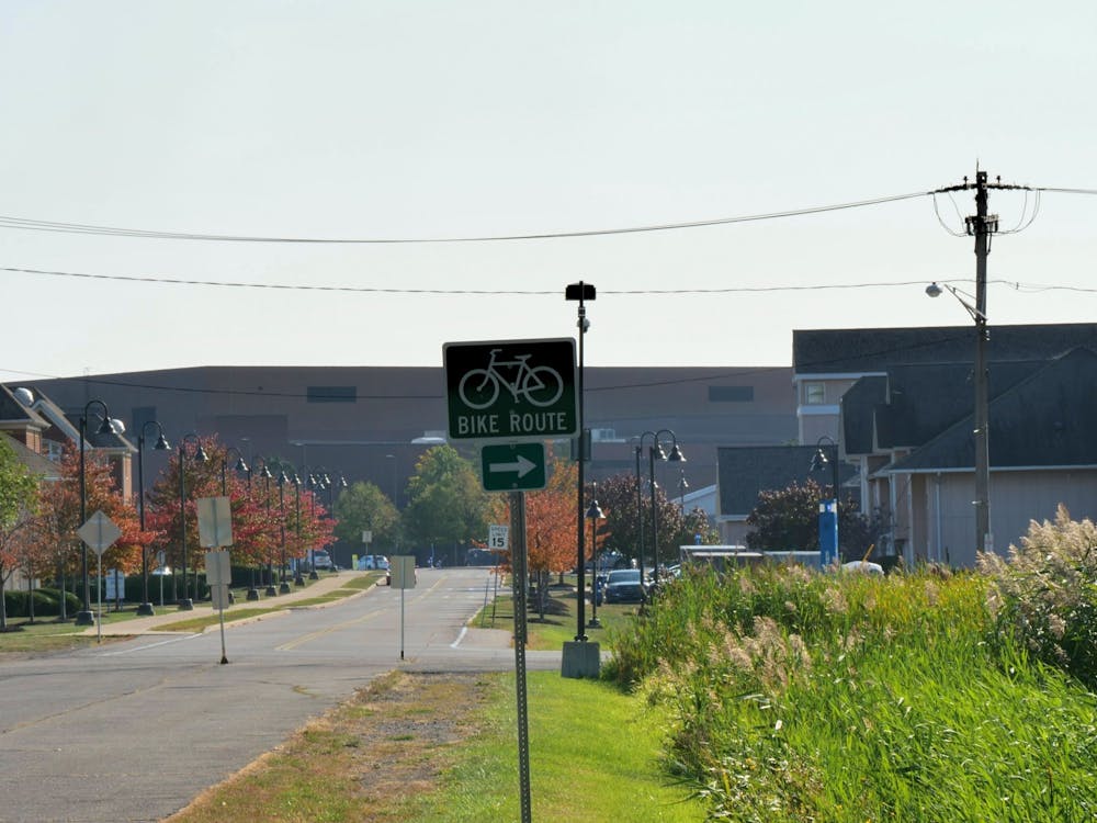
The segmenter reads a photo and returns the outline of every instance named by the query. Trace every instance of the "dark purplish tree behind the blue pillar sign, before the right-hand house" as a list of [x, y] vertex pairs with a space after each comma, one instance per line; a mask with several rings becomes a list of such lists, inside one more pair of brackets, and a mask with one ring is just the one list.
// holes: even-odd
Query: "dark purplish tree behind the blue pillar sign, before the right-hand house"
[[[759, 493], [758, 505], [747, 516], [747, 525], [754, 527], [747, 533], [747, 548], [754, 551], [817, 549], [821, 499], [823, 491], [813, 480]], [[879, 532], [879, 525], [858, 511], [852, 497], [838, 507], [838, 544], [842, 559], [860, 560]]]

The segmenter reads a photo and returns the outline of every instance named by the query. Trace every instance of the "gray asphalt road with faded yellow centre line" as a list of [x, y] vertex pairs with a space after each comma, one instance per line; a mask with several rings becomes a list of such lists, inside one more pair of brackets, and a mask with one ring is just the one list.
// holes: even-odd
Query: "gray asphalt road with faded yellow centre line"
[[[510, 631], [465, 631], [487, 570], [419, 570], [326, 608], [0, 661], [0, 821], [156, 821], [393, 668], [508, 670]], [[501, 625], [501, 624], [500, 624]], [[531, 652], [530, 668], [559, 667]]]

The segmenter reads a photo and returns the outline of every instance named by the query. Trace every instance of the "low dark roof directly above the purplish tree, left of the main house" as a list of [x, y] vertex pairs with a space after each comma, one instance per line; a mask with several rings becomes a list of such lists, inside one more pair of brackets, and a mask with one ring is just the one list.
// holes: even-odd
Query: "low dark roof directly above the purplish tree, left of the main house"
[[[829, 470], [812, 472], [814, 446], [743, 446], [716, 450], [720, 471], [720, 514], [749, 515], [758, 505], [758, 493], [785, 488], [814, 480], [830, 483]], [[857, 474], [848, 463], [838, 464], [838, 482], [845, 484]]]

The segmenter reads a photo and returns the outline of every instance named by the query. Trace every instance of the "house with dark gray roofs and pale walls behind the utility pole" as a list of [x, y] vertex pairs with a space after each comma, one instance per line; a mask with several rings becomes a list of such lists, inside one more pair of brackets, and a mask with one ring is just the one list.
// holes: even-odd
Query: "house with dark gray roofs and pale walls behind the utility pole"
[[[804, 454], [832, 438], [842, 497], [859, 493], [861, 510], [885, 523], [878, 554], [973, 565], [974, 336], [973, 326], [794, 331], [801, 446], [720, 450], [725, 542], [743, 542], [758, 492], [802, 481]], [[1053, 518], [1059, 504], [1075, 518], [1097, 518], [1097, 435], [1083, 425], [1097, 414], [1095, 352], [1097, 324], [991, 327], [998, 552], [1019, 542], [1030, 520]]]

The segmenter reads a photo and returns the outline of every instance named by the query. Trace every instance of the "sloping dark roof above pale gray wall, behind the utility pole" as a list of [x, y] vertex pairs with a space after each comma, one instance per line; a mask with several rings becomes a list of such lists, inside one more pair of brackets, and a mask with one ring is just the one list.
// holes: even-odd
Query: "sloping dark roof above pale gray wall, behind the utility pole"
[[[992, 372], [993, 373], [993, 372]], [[1097, 353], [1075, 349], [989, 404], [991, 469], [1097, 465]], [[971, 470], [973, 415], [928, 441], [893, 469]]]

